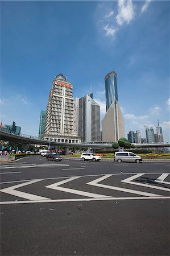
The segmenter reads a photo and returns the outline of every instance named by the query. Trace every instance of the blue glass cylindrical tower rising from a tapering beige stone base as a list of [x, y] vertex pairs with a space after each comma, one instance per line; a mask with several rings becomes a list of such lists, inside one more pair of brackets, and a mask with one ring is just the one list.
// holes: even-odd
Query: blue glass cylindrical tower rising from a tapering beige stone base
[[105, 76], [106, 114], [102, 120], [102, 141], [118, 142], [125, 137], [124, 119], [118, 104], [117, 74]]

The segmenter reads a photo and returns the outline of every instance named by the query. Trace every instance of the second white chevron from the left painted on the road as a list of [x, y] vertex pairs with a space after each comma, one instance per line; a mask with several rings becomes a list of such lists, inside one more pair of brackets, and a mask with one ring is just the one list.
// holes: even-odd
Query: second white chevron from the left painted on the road
[[59, 182], [56, 182], [56, 183], [53, 183], [51, 185], [45, 186], [45, 188], [51, 188], [51, 189], [55, 189], [55, 190], [59, 190], [59, 191], [67, 192], [67, 193], [72, 193], [72, 194], [81, 195], [81, 196], [88, 196], [88, 197], [92, 197], [92, 198], [111, 197], [111, 196], [99, 195], [99, 194], [95, 194], [95, 193], [89, 193], [89, 192], [86, 192], [86, 191], [80, 191], [80, 190], [77, 190], [77, 189], [59, 187], [59, 185], [63, 185], [65, 183], [68, 183], [69, 181], [76, 180], [78, 178], [80, 178], [80, 176], [71, 177], [67, 180], [61, 180]]

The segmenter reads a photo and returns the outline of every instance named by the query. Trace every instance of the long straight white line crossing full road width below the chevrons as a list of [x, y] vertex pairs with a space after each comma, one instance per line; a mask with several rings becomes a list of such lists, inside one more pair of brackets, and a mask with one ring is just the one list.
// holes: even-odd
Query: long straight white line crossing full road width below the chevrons
[[170, 199], [170, 196], [150, 196], [150, 197], [105, 197], [105, 198], [83, 198], [83, 199], [55, 199], [55, 200], [34, 200], [34, 201], [3, 201], [0, 205], [5, 204], [35, 204], [35, 203], [63, 203], [63, 202], [80, 202], [80, 201], [108, 201], [108, 200], [151, 200], [151, 199]]

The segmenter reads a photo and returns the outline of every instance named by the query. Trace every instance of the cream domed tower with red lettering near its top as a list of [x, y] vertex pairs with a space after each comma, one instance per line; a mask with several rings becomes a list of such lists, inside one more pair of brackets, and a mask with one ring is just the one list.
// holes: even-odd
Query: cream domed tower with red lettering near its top
[[44, 139], [80, 143], [73, 135], [73, 86], [60, 73], [52, 81], [47, 104]]

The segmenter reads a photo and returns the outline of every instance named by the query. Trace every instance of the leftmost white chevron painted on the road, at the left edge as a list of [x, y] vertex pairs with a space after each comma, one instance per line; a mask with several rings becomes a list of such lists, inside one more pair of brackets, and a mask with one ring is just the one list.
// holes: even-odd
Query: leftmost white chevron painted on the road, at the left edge
[[[41, 180], [43, 180], [43, 179], [41, 179]], [[49, 200], [49, 198], [47, 198], [47, 197], [36, 196], [36, 195], [32, 195], [30, 193], [25, 193], [25, 192], [22, 192], [22, 191], [16, 191], [15, 190], [16, 188], [21, 188], [21, 187], [24, 187], [26, 185], [36, 183], [38, 181], [40, 181], [40, 180], [31, 180], [31, 181], [28, 181], [28, 182], [25, 182], [25, 183], [22, 183], [22, 184], [14, 185], [12, 187], [3, 188], [0, 191], [4, 192], [4, 193], [7, 193], [7, 194], [10, 194], [10, 195], [13, 195], [13, 196], [22, 197], [22, 198], [28, 199], [28, 200]]]

